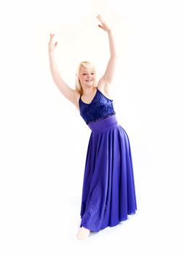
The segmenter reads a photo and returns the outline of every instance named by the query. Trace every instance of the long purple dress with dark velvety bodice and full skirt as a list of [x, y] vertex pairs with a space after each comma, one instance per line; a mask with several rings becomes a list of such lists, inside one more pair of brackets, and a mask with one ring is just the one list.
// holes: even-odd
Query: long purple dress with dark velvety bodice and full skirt
[[97, 89], [90, 104], [79, 98], [80, 115], [92, 130], [82, 187], [80, 227], [98, 232], [135, 214], [137, 203], [127, 132], [116, 120], [113, 99]]

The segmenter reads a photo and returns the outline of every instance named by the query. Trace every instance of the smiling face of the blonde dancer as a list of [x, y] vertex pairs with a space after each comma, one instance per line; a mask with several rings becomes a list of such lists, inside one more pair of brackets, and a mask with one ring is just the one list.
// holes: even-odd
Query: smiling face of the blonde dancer
[[81, 66], [79, 72], [79, 80], [82, 86], [94, 86], [95, 84], [95, 71], [94, 69], [87, 69]]

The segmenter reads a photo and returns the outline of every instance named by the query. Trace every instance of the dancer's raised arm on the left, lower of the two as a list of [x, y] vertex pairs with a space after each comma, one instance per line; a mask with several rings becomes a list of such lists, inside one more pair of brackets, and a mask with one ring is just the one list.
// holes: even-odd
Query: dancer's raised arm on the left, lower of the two
[[79, 92], [71, 89], [60, 77], [60, 72], [58, 70], [58, 65], [55, 60], [55, 48], [58, 45], [58, 42], [55, 42], [55, 45], [53, 45], [52, 38], [54, 37], [55, 34], [50, 34], [50, 42], [49, 42], [49, 59], [50, 59], [50, 71], [52, 75], [52, 79], [55, 82], [56, 86], [60, 90], [60, 92], [63, 94], [66, 99], [71, 101], [76, 108], [78, 109], [78, 97], [79, 97]]

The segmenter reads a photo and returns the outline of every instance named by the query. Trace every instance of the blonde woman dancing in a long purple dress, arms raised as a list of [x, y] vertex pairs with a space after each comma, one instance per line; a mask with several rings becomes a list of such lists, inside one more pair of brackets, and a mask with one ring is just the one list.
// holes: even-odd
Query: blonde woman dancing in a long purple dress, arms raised
[[54, 50], [58, 42], [53, 45], [54, 34], [50, 34], [49, 42], [52, 78], [92, 131], [84, 168], [78, 239], [87, 238], [90, 231], [98, 232], [118, 225], [137, 210], [130, 141], [116, 120], [113, 99], [109, 94], [116, 64], [114, 38], [106, 22], [100, 15], [97, 18], [100, 29], [108, 34], [111, 54], [106, 72], [98, 84], [93, 64], [82, 61], [76, 73], [76, 90], [71, 89], [60, 77], [55, 63]]

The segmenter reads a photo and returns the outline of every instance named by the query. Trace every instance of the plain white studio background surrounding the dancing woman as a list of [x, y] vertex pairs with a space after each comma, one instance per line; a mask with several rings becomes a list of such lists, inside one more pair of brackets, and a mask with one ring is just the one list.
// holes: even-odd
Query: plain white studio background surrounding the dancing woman
[[[180, 1], [6, 1], [0, 9], [1, 256], [181, 255]], [[78, 241], [90, 129], [53, 83], [47, 49], [54, 33], [71, 88], [80, 61], [92, 61], [99, 78], [109, 51], [98, 14], [119, 53], [112, 94], [130, 138], [138, 211]]]

